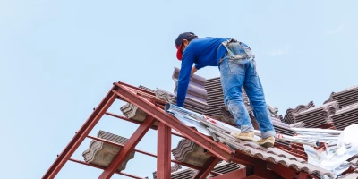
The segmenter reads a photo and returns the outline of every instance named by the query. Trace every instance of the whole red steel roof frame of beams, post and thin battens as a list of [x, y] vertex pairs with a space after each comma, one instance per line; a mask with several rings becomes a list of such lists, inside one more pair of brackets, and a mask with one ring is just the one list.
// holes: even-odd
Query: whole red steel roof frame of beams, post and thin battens
[[[148, 114], [146, 119], [143, 122], [136, 122], [124, 116], [107, 112], [107, 109], [114, 103], [115, 99], [124, 100], [126, 102], [132, 103], [136, 107], [139, 107], [142, 111]], [[127, 158], [132, 151], [140, 152], [142, 154], [157, 158], [158, 179], [170, 178], [171, 162], [199, 170], [195, 176], [195, 178], [198, 179], [205, 178], [207, 175], [209, 175], [209, 173], [215, 174], [217, 175], [217, 178], [220, 178], [219, 176], [222, 174], [212, 171], [212, 169], [217, 165], [217, 162], [220, 160], [225, 160], [227, 162], [233, 161], [235, 163], [253, 166], [255, 168], [255, 175], [275, 176], [279, 174], [281, 176], [285, 175], [292, 178], [307, 177], [307, 174], [305, 173], [301, 172], [299, 175], [297, 175], [290, 168], [277, 166], [279, 164], [268, 165], [268, 162], [262, 161], [259, 158], [252, 158], [240, 152], [236, 153], [236, 151], [230, 149], [223, 143], [217, 143], [212, 138], [202, 135], [200, 132], [197, 132], [196, 130], [181, 124], [181, 122], [179, 122], [174, 116], [166, 114], [166, 112], [163, 110], [165, 104], [166, 103], [164, 101], [155, 98], [155, 94], [150, 91], [142, 90], [123, 82], [114, 83], [114, 86], [111, 88], [111, 90], [108, 91], [106, 97], [103, 98], [98, 107], [93, 110], [90, 117], [81, 126], [80, 130], [76, 132], [72, 140], [67, 144], [61, 154], [58, 155], [58, 158], [55, 159], [55, 162], [48, 168], [47, 172], [45, 175], [43, 175], [42, 178], [55, 178], [55, 175], [58, 174], [58, 172], [62, 169], [67, 161], [103, 169], [103, 173], [98, 177], [99, 179], [107, 179], [114, 174], [126, 175], [132, 178], [141, 178], [139, 176], [129, 175], [116, 171], [117, 168], [123, 163], [124, 159]], [[90, 131], [96, 124], [98, 124], [100, 118], [105, 114], [123, 119], [128, 122], [132, 122], [134, 124], [140, 124], [140, 126], [124, 145], [89, 136]], [[156, 121], [158, 121], [158, 127], [153, 126]], [[158, 156], [139, 149], [134, 149], [138, 142], [141, 141], [142, 137], [146, 134], [146, 132], [149, 131], [149, 129], [158, 130]], [[171, 132], [172, 129], [176, 132], [179, 132], [180, 134]], [[208, 154], [212, 155], [212, 157], [209, 158], [202, 167], [192, 166], [190, 164], [185, 164], [180, 161], [171, 159], [170, 151], [172, 134], [194, 141], [200, 145], [200, 147], [206, 149]], [[78, 149], [78, 147], [81, 145], [81, 142], [84, 141], [86, 137], [97, 141], [107, 142], [116, 146], [121, 146], [122, 149], [117, 153], [115, 158], [107, 167], [95, 166], [90, 163], [71, 158], [74, 151]], [[268, 166], [270, 169], [268, 169]], [[243, 169], [240, 170], [241, 173], [243, 173]], [[246, 169], [244, 171], [246, 171]], [[236, 171], [236, 173], [239, 174], [240, 172]], [[224, 176], [225, 175], [222, 175], [222, 177]]]

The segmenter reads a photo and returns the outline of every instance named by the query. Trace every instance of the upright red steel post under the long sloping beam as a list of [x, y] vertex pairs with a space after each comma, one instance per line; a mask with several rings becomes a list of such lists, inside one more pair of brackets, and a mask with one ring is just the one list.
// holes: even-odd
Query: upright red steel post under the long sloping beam
[[157, 178], [170, 178], [170, 150], [172, 148], [172, 138], [170, 129], [166, 124], [158, 122], [158, 158], [157, 158]]

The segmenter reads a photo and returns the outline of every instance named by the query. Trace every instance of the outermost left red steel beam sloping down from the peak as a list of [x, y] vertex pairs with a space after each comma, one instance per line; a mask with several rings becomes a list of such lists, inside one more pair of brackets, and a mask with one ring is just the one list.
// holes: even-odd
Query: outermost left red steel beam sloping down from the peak
[[42, 176], [43, 179], [53, 179], [55, 175], [61, 170], [64, 164], [69, 158], [71, 158], [74, 151], [81, 145], [81, 142], [90, 133], [93, 127], [98, 123], [99, 119], [105, 114], [107, 109], [113, 104], [115, 98], [118, 96], [113, 93], [113, 90], [117, 90], [118, 86], [114, 85], [111, 90], [108, 91], [105, 98], [98, 104], [98, 107], [92, 112], [87, 121], [81, 126], [80, 130], [76, 132], [72, 140], [67, 144], [60, 155], [55, 159], [55, 162], [50, 166]]

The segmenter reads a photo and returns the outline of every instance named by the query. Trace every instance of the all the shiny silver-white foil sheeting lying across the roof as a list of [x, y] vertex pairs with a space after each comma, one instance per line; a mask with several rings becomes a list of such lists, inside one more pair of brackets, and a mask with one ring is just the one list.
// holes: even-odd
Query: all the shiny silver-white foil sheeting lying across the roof
[[[227, 132], [241, 132], [229, 124], [200, 115], [183, 107], [176, 107], [173, 104], [166, 104], [166, 113], [174, 115], [180, 122], [189, 127], [194, 127], [198, 132], [211, 136], [205, 124], [201, 121], [209, 121], [216, 124]], [[308, 163], [325, 168], [335, 174], [335, 178], [349, 168], [346, 161], [358, 154], [358, 124], [345, 128], [344, 131], [313, 128], [292, 128], [296, 136], [277, 135], [277, 140], [302, 143], [304, 151], [308, 156]], [[255, 130], [255, 140], [260, 139], [260, 131]], [[316, 143], [327, 143], [326, 151], [318, 151]], [[312, 147], [313, 146], [313, 147]]]

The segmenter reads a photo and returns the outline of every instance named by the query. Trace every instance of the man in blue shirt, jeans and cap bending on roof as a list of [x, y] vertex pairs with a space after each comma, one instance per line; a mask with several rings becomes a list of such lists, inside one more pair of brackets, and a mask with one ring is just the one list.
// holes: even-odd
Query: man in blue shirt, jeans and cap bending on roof
[[243, 87], [250, 99], [253, 115], [260, 124], [261, 139], [255, 142], [266, 148], [272, 147], [276, 132], [269, 116], [251, 48], [234, 38], [198, 38], [192, 32], [180, 34], [175, 39], [175, 47], [176, 57], [182, 62], [176, 105], [183, 107], [193, 73], [205, 66], [217, 66], [224, 91], [224, 103], [241, 130], [231, 135], [243, 141], [254, 141], [254, 128], [243, 103]]

